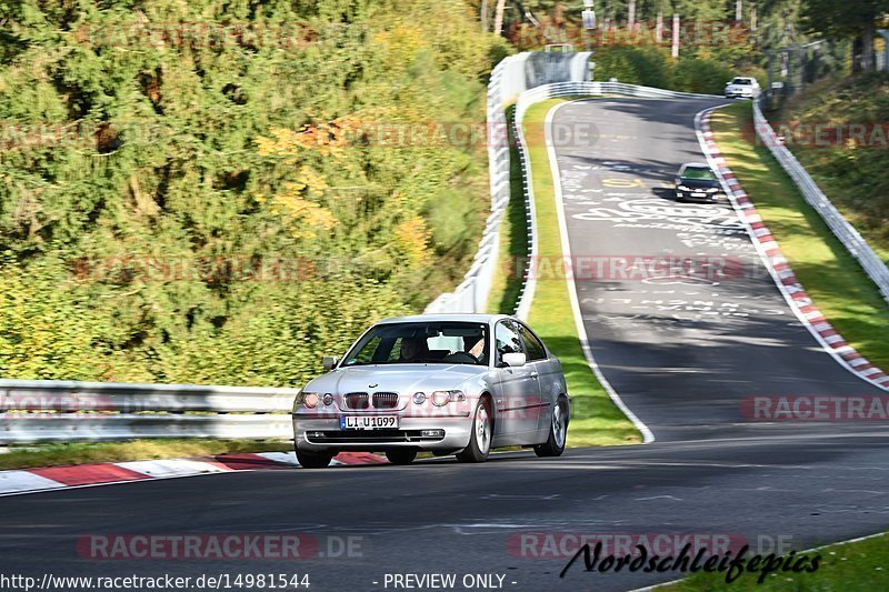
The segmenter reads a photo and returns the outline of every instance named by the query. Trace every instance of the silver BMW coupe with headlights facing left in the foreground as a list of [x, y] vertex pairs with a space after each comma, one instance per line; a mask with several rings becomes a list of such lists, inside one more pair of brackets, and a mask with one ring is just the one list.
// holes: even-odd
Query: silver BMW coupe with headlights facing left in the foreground
[[299, 463], [330, 464], [340, 451], [417, 453], [483, 462], [492, 448], [565, 450], [570, 398], [559, 360], [527, 324], [500, 314], [386, 319], [293, 403]]

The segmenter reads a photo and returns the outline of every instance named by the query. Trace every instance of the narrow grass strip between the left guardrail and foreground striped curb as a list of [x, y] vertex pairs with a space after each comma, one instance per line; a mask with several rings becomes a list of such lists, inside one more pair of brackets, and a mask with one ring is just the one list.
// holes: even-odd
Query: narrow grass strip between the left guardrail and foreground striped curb
[[143, 461], [211, 456], [226, 452], [276, 452], [293, 450], [282, 440], [131, 440], [128, 442], [77, 442], [10, 448], [0, 454], [0, 470], [59, 466], [97, 462]]

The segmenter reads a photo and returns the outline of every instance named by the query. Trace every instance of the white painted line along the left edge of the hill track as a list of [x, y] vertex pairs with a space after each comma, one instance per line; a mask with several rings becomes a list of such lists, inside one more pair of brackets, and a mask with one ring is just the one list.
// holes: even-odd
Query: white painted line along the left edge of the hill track
[[[547, 154], [549, 155], [549, 164], [550, 171], [552, 174], [552, 190], [556, 195], [556, 212], [559, 218], [559, 233], [561, 235], [562, 242], [562, 258], [567, 261], [571, 260], [571, 245], [568, 242], [568, 224], [565, 220], [565, 204], [562, 203], [562, 182], [561, 177], [559, 175], [559, 162], [556, 155], [556, 149], [552, 146], [552, 120], [556, 117], [556, 112], [559, 110], [560, 107], [566, 104], [571, 104], [576, 102], [583, 101], [585, 99], [578, 99], [575, 101], [569, 101], [565, 103], [559, 103], [552, 109], [549, 110], [547, 113], [546, 122], [543, 123], [545, 130], [545, 141], [547, 143]], [[611, 383], [608, 382], [608, 379], [605, 378], [602, 371], [599, 369], [599, 364], [596, 363], [596, 359], [592, 357], [592, 350], [590, 349], [590, 341], [587, 337], [587, 328], [583, 324], [583, 319], [580, 314], [580, 303], [577, 300], [577, 285], [575, 284], [575, 277], [572, 273], [568, 274], [569, 278], [566, 279], [568, 283], [568, 298], [571, 301], [571, 310], [575, 313], [575, 327], [577, 327], [577, 334], [580, 338], [580, 345], [583, 349], [583, 355], [587, 358], [587, 364], [589, 364], [592, 373], [596, 374], [596, 378], [605, 388], [606, 392], [608, 392], [608, 397], [613, 401], [613, 403], [620, 409], [627, 418], [636, 425], [636, 429], [639, 430], [642, 434], [642, 443], [649, 444], [655, 441], [655, 434], [651, 430], [648, 429], [648, 425], [640, 420], [636, 413], [627, 407], [627, 403], [620, 398], [618, 392], [611, 387]]]

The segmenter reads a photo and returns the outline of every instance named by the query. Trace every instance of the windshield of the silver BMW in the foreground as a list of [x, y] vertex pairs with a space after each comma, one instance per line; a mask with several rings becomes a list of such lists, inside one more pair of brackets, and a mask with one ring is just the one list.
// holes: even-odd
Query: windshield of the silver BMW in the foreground
[[488, 365], [488, 325], [472, 322], [378, 324], [356, 343], [342, 365], [429, 363]]

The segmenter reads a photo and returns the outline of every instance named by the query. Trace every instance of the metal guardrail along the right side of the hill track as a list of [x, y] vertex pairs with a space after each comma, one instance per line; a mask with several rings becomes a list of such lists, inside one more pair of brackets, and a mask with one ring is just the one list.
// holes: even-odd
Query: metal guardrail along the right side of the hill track
[[877, 284], [883, 299], [889, 302], [889, 269], [886, 263], [877, 257], [861, 234], [830, 202], [792, 152], [778, 140], [758, 102], [753, 103], [753, 126], [757, 130], [757, 138], [769, 149], [793, 180], [809, 205], [825, 220], [833, 235], [856, 258], [868, 277]]

